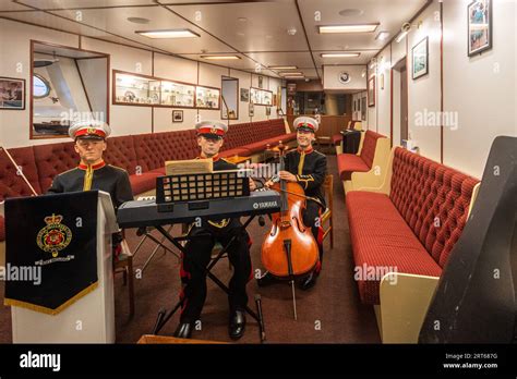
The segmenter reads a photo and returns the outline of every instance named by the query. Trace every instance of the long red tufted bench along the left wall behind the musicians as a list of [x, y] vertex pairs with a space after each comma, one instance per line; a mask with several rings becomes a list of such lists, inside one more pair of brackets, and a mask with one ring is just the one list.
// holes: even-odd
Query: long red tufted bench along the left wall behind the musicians
[[[235, 124], [228, 129], [221, 156], [248, 157], [261, 152], [267, 144], [275, 146], [279, 140], [288, 143], [293, 139], [296, 133], [286, 134], [282, 119]], [[73, 142], [36, 145], [9, 151], [34, 190], [41, 194], [50, 187], [57, 174], [77, 166], [73, 145]], [[129, 172], [133, 194], [136, 195], [155, 187], [156, 178], [165, 174], [165, 161], [193, 159], [197, 154], [195, 131], [187, 130], [111, 137], [105, 160]], [[0, 201], [29, 195], [31, 190], [0, 150]], [[0, 217], [0, 242], [5, 240], [3, 227], [3, 218]]]

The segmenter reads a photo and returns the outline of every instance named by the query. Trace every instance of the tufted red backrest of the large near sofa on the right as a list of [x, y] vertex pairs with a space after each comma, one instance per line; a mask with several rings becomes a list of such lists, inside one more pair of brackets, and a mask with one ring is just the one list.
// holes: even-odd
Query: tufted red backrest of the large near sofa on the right
[[464, 230], [478, 182], [406, 149], [395, 150], [389, 197], [441, 267]]

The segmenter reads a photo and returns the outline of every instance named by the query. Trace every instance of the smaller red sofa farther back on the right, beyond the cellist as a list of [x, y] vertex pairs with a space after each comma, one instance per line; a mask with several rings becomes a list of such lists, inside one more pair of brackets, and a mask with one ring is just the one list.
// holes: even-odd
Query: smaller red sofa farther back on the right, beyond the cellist
[[366, 131], [362, 143], [362, 148], [359, 155], [354, 154], [338, 154], [337, 156], [337, 171], [341, 181], [351, 179], [352, 172], [368, 172], [372, 168], [373, 158], [375, 157], [375, 149], [378, 138], [386, 138], [384, 135]]

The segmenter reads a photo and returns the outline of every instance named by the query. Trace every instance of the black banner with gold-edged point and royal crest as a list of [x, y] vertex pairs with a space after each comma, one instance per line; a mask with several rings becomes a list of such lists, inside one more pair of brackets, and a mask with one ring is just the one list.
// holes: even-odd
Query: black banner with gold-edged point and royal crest
[[56, 315], [96, 289], [97, 197], [5, 200], [5, 305]]

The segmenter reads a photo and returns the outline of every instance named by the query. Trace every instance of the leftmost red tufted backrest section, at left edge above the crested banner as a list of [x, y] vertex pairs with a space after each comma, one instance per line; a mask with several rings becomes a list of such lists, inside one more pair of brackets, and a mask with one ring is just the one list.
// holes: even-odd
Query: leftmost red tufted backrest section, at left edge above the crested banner
[[[36, 193], [40, 194], [39, 179], [32, 146], [9, 149], [9, 154], [21, 172], [26, 176]], [[31, 196], [33, 192], [20, 171], [8, 158], [5, 151], [0, 149], [0, 201], [8, 197]]]

